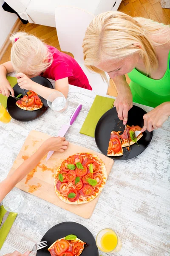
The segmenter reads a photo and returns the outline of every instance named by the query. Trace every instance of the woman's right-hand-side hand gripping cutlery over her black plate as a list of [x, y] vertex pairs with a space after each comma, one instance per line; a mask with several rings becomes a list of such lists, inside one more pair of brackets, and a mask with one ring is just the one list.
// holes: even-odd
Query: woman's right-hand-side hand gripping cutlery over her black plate
[[169, 116], [170, 102], [164, 102], [143, 116], [144, 126], [141, 131], [153, 131], [160, 128]]

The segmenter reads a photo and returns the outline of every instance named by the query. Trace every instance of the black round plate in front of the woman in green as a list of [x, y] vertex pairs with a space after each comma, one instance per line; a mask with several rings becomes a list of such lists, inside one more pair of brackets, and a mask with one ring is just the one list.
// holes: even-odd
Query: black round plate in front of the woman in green
[[[142, 108], [133, 106], [128, 112], [128, 125], [139, 125], [143, 127], [143, 115], [147, 112]], [[124, 131], [125, 125], [117, 116], [116, 108], [112, 108], [107, 111], [100, 119], [96, 125], [95, 130], [95, 141], [99, 150], [107, 156], [108, 144], [111, 137], [111, 131]], [[139, 140], [140, 147], [135, 143], [130, 146], [131, 150], [128, 151], [127, 148], [123, 148], [123, 155], [119, 157], [110, 157], [116, 160], [127, 160], [141, 154], [147, 146], [153, 136], [153, 131], [144, 131], [142, 138]]]

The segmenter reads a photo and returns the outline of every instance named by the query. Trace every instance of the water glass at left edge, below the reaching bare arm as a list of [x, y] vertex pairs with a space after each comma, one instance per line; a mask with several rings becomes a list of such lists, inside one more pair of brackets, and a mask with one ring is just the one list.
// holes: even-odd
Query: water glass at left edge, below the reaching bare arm
[[3, 200], [3, 206], [8, 212], [28, 213], [31, 209], [30, 203], [23, 195], [16, 191], [11, 191]]

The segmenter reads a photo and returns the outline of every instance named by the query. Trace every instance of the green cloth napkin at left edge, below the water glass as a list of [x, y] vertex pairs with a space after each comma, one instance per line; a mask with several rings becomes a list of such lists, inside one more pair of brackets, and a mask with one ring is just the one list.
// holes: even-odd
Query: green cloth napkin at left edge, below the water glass
[[[6, 209], [3, 207], [3, 205], [0, 206], [0, 224], [2, 222], [3, 216], [6, 213]], [[3, 226], [0, 229], [0, 249], [3, 246], [3, 243], [12, 227], [12, 224], [14, 223], [15, 218], [17, 217], [17, 213], [10, 212], [6, 221], [4, 222]]]

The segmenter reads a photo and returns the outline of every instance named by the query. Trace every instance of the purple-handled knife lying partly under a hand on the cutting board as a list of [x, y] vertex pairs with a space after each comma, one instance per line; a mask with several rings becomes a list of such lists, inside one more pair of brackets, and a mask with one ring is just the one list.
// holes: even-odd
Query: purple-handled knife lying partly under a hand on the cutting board
[[[82, 109], [82, 105], [79, 104], [77, 106], [77, 108], [75, 109], [75, 111], [72, 113], [69, 121], [67, 124], [63, 125], [61, 130], [59, 131], [59, 133], [57, 134], [57, 137], [64, 137], [64, 135], [66, 134], [66, 132], [68, 131], [68, 128], [73, 124], [73, 122], [76, 120], [80, 110]], [[48, 161], [48, 159], [52, 156], [52, 154], [54, 153], [54, 151], [49, 151], [46, 161]]]

